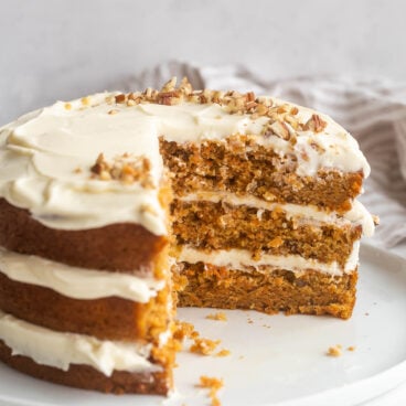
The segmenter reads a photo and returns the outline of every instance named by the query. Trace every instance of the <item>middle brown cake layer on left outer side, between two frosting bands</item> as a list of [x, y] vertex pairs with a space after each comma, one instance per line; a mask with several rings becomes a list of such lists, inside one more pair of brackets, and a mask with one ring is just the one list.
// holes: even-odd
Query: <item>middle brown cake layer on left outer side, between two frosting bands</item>
[[10, 280], [0, 268], [0, 309], [54, 331], [115, 341], [159, 341], [168, 330], [168, 287], [147, 303], [118, 297], [78, 300], [31, 284]]

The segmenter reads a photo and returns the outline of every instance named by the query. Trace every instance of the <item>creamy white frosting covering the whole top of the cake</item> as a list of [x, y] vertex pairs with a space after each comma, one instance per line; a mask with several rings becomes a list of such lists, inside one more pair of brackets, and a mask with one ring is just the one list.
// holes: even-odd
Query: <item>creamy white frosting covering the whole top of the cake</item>
[[[157, 235], [165, 234], [164, 212], [158, 200], [162, 177], [159, 136], [177, 142], [201, 142], [252, 135], [278, 153], [295, 154], [300, 175], [313, 175], [323, 167], [363, 170], [365, 177], [370, 173], [356, 141], [323, 115], [320, 117], [327, 127], [318, 133], [301, 131], [293, 146], [275, 135], [264, 137], [267, 117], [232, 115], [217, 104], [111, 105], [106, 103], [111, 95], [89, 96], [86, 103], [58, 101], [3, 127], [0, 196], [30, 210], [38, 221], [54, 228], [84, 229], [131, 222]], [[274, 99], [274, 104], [282, 103]], [[297, 117], [306, 122], [312, 114], [300, 107]], [[321, 148], [314, 149], [314, 145]], [[124, 153], [149, 158], [153, 188], [143, 188], [140, 182], [90, 179], [89, 168], [100, 152], [107, 161]]]

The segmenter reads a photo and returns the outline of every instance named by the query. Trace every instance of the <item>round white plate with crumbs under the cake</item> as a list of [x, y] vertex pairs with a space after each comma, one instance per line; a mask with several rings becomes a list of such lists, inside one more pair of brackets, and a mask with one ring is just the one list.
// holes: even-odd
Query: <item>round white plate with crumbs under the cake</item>
[[[406, 260], [363, 246], [359, 299], [353, 317], [266, 316], [225, 311], [213, 321], [210, 309], [180, 309], [202, 336], [221, 339], [226, 357], [188, 352], [178, 357], [177, 393], [114, 396], [66, 388], [0, 365], [0, 405], [158, 406], [209, 405], [195, 388], [199, 376], [223, 377], [224, 406], [355, 405], [406, 381]], [[325, 355], [341, 344], [340, 357]], [[353, 352], [345, 349], [354, 345]]]

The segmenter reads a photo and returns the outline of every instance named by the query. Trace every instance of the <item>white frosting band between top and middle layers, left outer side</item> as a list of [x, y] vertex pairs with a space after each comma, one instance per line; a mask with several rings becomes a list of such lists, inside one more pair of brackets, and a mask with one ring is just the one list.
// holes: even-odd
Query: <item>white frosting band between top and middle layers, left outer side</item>
[[164, 280], [133, 275], [71, 267], [34, 255], [0, 247], [0, 273], [19, 282], [42, 286], [74, 299], [119, 297], [147, 303]]

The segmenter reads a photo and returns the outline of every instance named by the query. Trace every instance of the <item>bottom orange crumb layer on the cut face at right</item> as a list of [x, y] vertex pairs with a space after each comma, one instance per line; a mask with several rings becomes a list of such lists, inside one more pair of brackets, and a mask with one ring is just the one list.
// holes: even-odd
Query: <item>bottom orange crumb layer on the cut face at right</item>
[[307, 269], [296, 274], [276, 269], [241, 271], [203, 263], [179, 264], [179, 306], [252, 309], [265, 313], [351, 317], [357, 273], [323, 275]]

